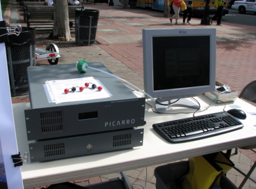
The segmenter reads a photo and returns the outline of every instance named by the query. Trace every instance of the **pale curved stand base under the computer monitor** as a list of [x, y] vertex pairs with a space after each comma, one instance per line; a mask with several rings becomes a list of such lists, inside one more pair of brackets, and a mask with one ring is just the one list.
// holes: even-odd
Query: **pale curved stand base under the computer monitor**
[[[175, 102], [177, 99], [173, 99], [172, 101]], [[196, 101], [192, 101], [191, 99], [187, 99], [187, 98], [181, 98], [179, 99], [177, 102], [170, 104], [170, 105], [162, 105], [162, 104], [169, 104], [172, 103], [171, 100], [162, 100], [160, 98], [157, 98], [156, 100], [157, 102], [161, 103], [158, 104], [156, 102], [156, 111], [158, 113], [164, 113], [169, 107], [188, 107], [190, 109], [199, 109], [200, 106], [198, 105], [198, 103]]]

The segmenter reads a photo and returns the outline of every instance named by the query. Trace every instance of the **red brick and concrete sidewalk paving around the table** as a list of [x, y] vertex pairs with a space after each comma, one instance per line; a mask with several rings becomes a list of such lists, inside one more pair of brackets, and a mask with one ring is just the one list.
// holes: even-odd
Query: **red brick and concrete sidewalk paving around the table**
[[[217, 25], [201, 25], [201, 19], [192, 18], [191, 25], [174, 25], [164, 18], [163, 13], [143, 9], [122, 9], [122, 6], [106, 4], [84, 4], [88, 9], [99, 10], [96, 41], [92, 46], [76, 45], [75, 34], [70, 42], [48, 40], [49, 34], [37, 34], [36, 46], [45, 48], [48, 42], [57, 44], [61, 58], [58, 64], [76, 63], [79, 60], [102, 62], [115, 75], [126, 79], [143, 89], [143, 55], [142, 29], [145, 28], [216, 28], [217, 29], [217, 74], [219, 82], [225, 83], [239, 93], [242, 88], [256, 79], [256, 28], [252, 26], [222, 23]], [[10, 19], [10, 24], [23, 21], [22, 9], [16, 1], [12, 1], [10, 12], [3, 19]], [[225, 17], [223, 18], [225, 19]], [[180, 23], [182, 20], [180, 19]], [[37, 62], [38, 65], [49, 66], [48, 61]], [[28, 96], [15, 97], [13, 103], [29, 101]], [[245, 153], [232, 155], [231, 159], [241, 170], [247, 172], [255, 161], [255, 155], [248, 158]], [[157, 165], [159, 166], [159, 165]], [[155, 188], [154, 169], [157, 166], [126, 171], [134, 188]], [[87, 185], [110, 178], [120, 177], [118, 173], [85, 178], [75, 181], [79, 185]], [[236, 170], [228, 172], [228, 178], [238, 186], [243, 175]], [[251, 176], [256, 180], [255, 171]], [[248, 180], [243, 188], [256, 188], [256, 184]]]

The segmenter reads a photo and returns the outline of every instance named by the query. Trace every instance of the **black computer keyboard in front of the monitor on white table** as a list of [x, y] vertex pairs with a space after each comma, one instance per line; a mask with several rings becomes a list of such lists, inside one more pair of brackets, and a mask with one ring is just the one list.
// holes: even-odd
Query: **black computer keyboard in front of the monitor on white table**
[[208, 138], [242, 127], [240, 121], [226, 112], [153, 124], [153, 128], [171, 143]]

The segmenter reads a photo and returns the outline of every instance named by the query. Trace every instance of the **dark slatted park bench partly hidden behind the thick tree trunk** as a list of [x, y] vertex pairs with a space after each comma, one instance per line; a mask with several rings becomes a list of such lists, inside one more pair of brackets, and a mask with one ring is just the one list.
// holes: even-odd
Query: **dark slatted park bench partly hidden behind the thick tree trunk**
[[[75, 9], [83, 8], [82, 5], [78, 6], [68, 6], [69, 9], [69, 21], [73, 22], [75, 20]], [[53, 6], [47, 5], [26, 5], [24, 12], [24, 21], [27, 23], [28, 27], [36, 29], [49, 30], [53, 28]], [[71, 25], [73, 27], [73, 25]]]

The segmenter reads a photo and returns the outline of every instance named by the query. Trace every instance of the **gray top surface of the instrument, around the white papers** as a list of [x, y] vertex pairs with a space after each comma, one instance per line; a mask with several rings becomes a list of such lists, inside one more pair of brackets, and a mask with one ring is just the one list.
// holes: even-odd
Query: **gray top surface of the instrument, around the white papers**
[[[90, 63], [90, 66], [110, 73], [110, 71], [100, 62]], [[94, 77], [94, 79], [98, 79], [102, 85], [112, 94], [111, 98], [63, 102], [59, 104], [48, 102], [47, 95], [44, 90], [44, 85], [47, 80], [72, 79], [82, 77]], [[94, 69], [89, 69], [87, 73], [81, 73], [77, 70], [75, 63], [51, 65], [50, 67], [29, 67], [28, 80], [30, 103], [32, 109], [137, 98], [136, 95], [134, 95], [132, 91], [123, 85], [123, 83], [121, 83], [117, 78]]]

